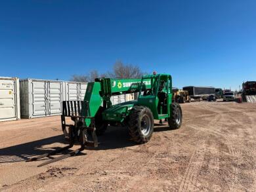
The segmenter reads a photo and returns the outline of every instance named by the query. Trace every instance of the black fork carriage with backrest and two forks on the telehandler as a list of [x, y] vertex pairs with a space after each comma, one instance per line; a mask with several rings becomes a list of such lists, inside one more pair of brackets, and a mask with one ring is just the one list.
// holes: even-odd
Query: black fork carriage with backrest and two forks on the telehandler
[[[83, 111], [85, 110], [85, 111]], [[51, 151], [50, 153], [45, 153], [43, 155], [39, 155], [37, 157], [32, 157], [31, 159], [28, 159], [29, 161], [37, 161], [39, 159], [43, 159], [45, 157], [51, 157], [52, 155], [56, 155], [62, 151], [66, 151], [74, 146], [75, 142], [79, 142], [80, 148], [76, 149], [74, 151], [70, 151], [67, 154], [61, 155], [60, 157], [56, 157], [54, 159], [51, 159], [45, 163], [41, 163], [38, 166], [43, 166], [46, 164], [54, 163], [56, 161], [60, 161], [62, 159], [66, 159], [68, 157], [72, 157], [74, 155], [77, 155], [83, 149], [85, 149], [86, 146], [89, 147], [97, 147], [98, 146], [98, 139], [96, 137], [96, 128], [95, 128], [95, 118], [89, 117], [89, 116], [82, 116], [82, 114], [88, 114], [88, 103], [83, 101], [65, 101], [62, 102], [62, 115], [61, 115], [61, 123], [62, 123], [62, 131], [64, 133], [64, 136], [66, 140], [69, 141], [69, 145], [62, 147], [60, 149], [56, 149], [54, 151]], [[74, 125], [66, 125], [66, 117], [71, 117], [72, 121], [74, 121]], [[91, 119], [91, 125], [86, 126], [85, 125], [85, 119]], [[66, 127], [68, 127], [68, 132], [66, 130]], [[91, 136], [93, 138], [92, 141], [88, 140], [88, 134], [87, 132], [91, 132]]]

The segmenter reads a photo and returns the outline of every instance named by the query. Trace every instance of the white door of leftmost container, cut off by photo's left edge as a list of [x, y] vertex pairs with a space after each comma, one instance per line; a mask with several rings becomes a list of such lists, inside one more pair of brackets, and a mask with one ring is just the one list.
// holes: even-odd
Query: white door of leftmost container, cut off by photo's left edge
[[16, 117], [14, 80], [0, 80], [0, 119]]

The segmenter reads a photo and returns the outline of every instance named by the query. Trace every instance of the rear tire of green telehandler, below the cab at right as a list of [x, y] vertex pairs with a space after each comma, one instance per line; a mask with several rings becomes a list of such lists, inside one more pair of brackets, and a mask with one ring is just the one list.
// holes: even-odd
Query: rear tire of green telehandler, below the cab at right
[[177, 129], [182, 124], [182, 110], [179, 104], [171, 104], [171, 115], [168, 118], [168, 124], [171, 129]]

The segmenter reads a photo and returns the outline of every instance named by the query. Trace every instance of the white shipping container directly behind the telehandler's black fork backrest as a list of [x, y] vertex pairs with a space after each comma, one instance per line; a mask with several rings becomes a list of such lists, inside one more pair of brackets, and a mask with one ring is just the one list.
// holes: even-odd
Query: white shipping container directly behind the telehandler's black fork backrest
[[66, 101], [82, 101], [85, 97], [87, 83], [65, 81], [64, 87]]

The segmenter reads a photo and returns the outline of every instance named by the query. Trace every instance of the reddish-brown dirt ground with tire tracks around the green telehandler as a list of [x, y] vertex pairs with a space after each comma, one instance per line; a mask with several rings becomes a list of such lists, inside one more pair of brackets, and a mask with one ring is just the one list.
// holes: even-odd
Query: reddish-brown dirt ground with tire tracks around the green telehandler
[[60, 117], [0, 123], [0, 191], [256, 191], [256, 105], [182, 111], [181, 128], [156, 124], [147, 144], [110, 127], [98, 148], [42, 167], [25, 161], [65, 145]]

